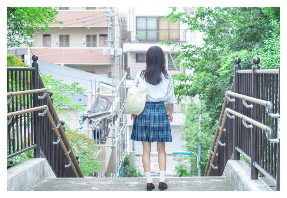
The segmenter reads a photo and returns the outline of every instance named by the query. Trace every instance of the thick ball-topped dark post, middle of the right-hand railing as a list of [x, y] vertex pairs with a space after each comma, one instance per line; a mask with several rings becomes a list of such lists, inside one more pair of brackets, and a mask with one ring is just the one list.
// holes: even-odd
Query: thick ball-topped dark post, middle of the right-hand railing
[[[253, 58], [254, 65], [252, 66], [252, 92], [251, 96], [253, 98], [259, 98], [258, 96], [258, 75], [255, 73], [257, 69], [260, 69], [259, 63], [260, 59], [259, 57]], [[258, 113], [258, 104], [252, 102], [253, 108], [251, 111], [251, 118], [253, 120], [258, 121], [259, 120], [259, 113]], [[253, 125], [253, 128], [251, 129], [251, 179], [258, 179], [258, 169], [255, 168], [253, 163], [257, 161], [257, 135], [259, 133], [259, 128]]]

